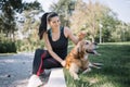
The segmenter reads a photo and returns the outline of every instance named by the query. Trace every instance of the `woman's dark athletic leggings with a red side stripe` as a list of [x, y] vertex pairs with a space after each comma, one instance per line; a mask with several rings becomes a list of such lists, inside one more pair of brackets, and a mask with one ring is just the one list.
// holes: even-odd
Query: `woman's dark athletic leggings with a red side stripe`
[[61, 67], [62, 65], [53, 59], [47, 50], [37, 49], [32, 62], [32, 74], [40, 75], [44, 69]]

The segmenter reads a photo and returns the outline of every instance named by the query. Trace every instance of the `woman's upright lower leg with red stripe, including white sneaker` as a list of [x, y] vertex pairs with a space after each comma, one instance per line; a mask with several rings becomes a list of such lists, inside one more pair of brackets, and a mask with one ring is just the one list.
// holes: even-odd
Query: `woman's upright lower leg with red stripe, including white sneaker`
[[38, 87], [42, 85], [43, 83], [39, 78], [39, 75], [41, 72], [41, 65], [42, 65], [42, 59], [46, 58], [47, 51], [42, 49], [37, 49], [35, 52], [35, 58], [32, 62], [32, 75], [30, 76], [28, 80], [27, 87]]

